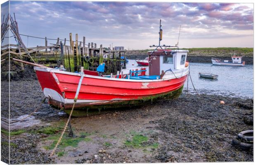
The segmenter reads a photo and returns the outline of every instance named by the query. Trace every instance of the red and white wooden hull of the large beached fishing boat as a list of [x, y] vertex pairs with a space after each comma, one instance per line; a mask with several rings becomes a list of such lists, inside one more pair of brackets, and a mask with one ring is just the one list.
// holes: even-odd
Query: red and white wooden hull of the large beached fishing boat
[[[70, 113], [81, 75], [46, 68], [35, 70], [42, 90], [49, 98], [49, 104]], [[185, 71], [180, 78], [140, 81], [85, 75], [74, 107], [77, 113], [72, 115], [88, 115], [90, 109], [96, 109], [97, 112], [101, 109], [139, 106], [159, 99], [177, 98], [186, 78]]]

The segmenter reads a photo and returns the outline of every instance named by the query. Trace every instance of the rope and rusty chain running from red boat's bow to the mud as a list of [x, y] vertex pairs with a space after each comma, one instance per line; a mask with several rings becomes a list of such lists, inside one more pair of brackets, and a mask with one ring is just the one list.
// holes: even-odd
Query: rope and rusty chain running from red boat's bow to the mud
[[78, 94], [79, 94], [79, 91], [80, 91], [80, 87], [81, 87], [81, 84], [82, 84], [83, 76], [84, 76], [83, 71], [81, 71], [81, 78], [80, 78], [79, 83], [78, 83], [78, 87], [77, 87], [77, 90], [76, 90], [76, 95], [75, 95], [75, 98], [74, 98], [74, 103], [73, 103], [71, 112], [69, 114], [69, 118], [68, 118], [68, 120], [66, 122], [66, 125], [65, 125], [65, 127], [64, 127], [64, 129], [62, 131], [62, 134], [60, 135], [59, 140], [58, 140], [57, 144], [55, 145], [54, 149], [52, 150], [52, 153], [50, 154], [50, 156], [53, 156], [53, 154], [55, 153], [55, 150], [59, 146], [60, 141], [62, 140], [62, 137], [63, 137], [64, 133], [66, 132], [66, 127], [69, 124], [69, 120], [71, 119], [71, 115], [73, 113], [73, 110], [74, 110], [74, 107], [75, 107], [75, 104], [76, 104], [76, 101], [77, 101], [77, 97], [78, 97]]

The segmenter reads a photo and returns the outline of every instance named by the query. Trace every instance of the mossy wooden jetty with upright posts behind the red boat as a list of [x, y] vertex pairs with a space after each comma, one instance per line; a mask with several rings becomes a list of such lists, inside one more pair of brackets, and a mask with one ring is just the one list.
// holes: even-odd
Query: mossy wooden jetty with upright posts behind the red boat
[[[120, 71], [121, 68], [126, 68], [126, 60], [121, 58], [126, 56], [125, 50], [111, 50], [106, 47], [97, 47], [96, 43], [88, 42], [85, 44], [85, 37], [83, 41], [78, 41], [78, 34], [76, 39], [72, 40], [72, 33], [69, 33], [69, 40], [56, 39], [55, 44], [47, 45], [48, 40], [45, 37], [45, 46], [29, 47], [27, 48], [30, 57], [37, 63], [49, 67], [58, 67], [64, 65], [66, 71], [75, 72], [80, 71], [81, 66], [85, 69], [96, 71], [99, 64], [105, 63], [104, 74], [111, 74]], [[70, 42], [71, 41], [71, 42]], [[70, 45], [66, 45], [70, 42]], [[1, 47], [1, 65], [2, 71], [8, 71], [5, 67], [4, 59], [8, 59], [10, 54], [10, 71], [23, 71], [22, 63], [12, 61], [12, 58], [25, 59], [32, 61], [27, 55], [27, 52], [20, 48], [19, 45], [8, 44]], [[104, 58], [105, 57], [105, 58]]]

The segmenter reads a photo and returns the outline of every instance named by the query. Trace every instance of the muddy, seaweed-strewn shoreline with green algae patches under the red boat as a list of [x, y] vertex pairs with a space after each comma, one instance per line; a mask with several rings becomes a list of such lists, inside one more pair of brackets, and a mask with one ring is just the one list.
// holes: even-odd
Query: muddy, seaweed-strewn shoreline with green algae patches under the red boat
[[[5, 81], [1, 83], [7, 85]], [[5, 96], [6, 90], [1, 89]], [[37, 80], [11, 81], [11, 118], [33, 112], [43, 97]], [[220, 105], [220, 100], [225, 105]], [[7, 115], [5, 111], [1, 113]], [[244, 123], [244, 118], [252, 114], [252, 99], [183, 91], [175, 100], [71, 118], [75, 136], [64, 135], [63, 144], [49, 158], [68, 115], [45, 101], [33, 114], [33, 120], [40, 121], [38, 124], [24, 127], [31, 120], [28, 119], [18, 128], [11, 125], [16, 129], [11, 134], [11, 163], [254, 161], [252, 149], [242, 151], [231, 144], [239, 132], [253, 130], [252, 125]], [[3, 144], [5, 139], [2, 138]], [[1, 147], [2, 151], [6, 149]]]

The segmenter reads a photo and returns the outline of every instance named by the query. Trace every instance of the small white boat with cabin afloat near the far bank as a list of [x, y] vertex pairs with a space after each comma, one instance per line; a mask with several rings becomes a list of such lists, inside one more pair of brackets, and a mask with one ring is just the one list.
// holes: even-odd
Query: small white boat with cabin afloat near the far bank
[[213, 65], [222, 65], [222, 66], [244, 66], [245, 61], [242, 61], [242, 57], [240, 56], [232, 56], [231, 60], [221, 60], [217, 58], [211, 58], [211, 62]]

